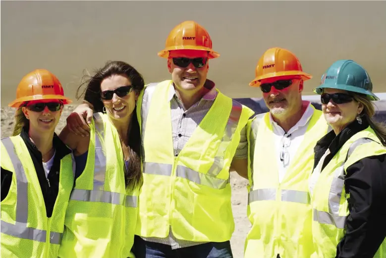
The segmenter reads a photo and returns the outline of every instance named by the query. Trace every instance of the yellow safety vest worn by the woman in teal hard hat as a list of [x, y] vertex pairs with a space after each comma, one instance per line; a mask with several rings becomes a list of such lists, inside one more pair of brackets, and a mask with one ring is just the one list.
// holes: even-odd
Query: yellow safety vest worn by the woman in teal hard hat
[[[358, 160], [383, 155], [386, 148], [371, 127], [356, 133], [340, 148], [331, 161], [320, 173], [313, 194], [313, 239], [316, 256], [313, 258], [333, 258], [336, 255], [336, 246], [345, 234], [345, 221], [349, 215], [349, 193], [344, 187], [346, 169]], [[314, 170], [313, 173], [319, 173]], [[386, 257], [386, 240], [374, 258]]]

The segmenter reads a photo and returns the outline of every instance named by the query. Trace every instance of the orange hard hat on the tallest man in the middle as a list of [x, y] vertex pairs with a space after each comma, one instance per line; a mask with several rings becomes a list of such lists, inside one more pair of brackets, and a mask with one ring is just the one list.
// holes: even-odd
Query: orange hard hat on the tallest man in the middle
[[202, 50], [208, 52], [209, 58], [220, 56], [212, 50], [209, 33], [195, 21], [184, 21], [175, 26], [167, 36], [165, 49], [158, 55], [167, 58], [172, 50]]

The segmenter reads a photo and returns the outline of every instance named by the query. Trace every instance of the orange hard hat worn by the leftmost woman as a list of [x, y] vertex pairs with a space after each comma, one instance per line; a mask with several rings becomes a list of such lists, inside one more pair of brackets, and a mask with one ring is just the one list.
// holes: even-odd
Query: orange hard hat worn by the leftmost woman
[[61, 100], [63, 104], [72, 103], [64, 97], [63, 87], [54, 74], [46, 69], [37, 69], [25, 75], [16, 89], [16, 100], [8, 106], [19, 107], [26, 101]]

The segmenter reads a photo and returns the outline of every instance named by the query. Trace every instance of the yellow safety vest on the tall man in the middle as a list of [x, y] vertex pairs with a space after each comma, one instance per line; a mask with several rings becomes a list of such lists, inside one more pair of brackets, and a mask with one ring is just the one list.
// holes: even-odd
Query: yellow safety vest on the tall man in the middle
[[136, 235], [164, 238], [171, 228], [178, 239], [227, 241], [234, 230], [229, 167], [253, 111], [218, 92], [174, 156], [169, 87], [171, 80], [150, 84], [138, 100], [145, 159]]

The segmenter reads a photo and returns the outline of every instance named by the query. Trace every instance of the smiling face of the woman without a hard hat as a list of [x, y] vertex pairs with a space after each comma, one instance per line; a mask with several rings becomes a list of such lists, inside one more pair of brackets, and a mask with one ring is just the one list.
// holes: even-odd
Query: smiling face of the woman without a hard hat
[[[124, 74], [114, 74], [102, 80], [101, 91], [113, 91], [124, 86], [132, 86], [130, 79]], [[125, 87], [118, 89], [118, 95], [121, 96], [118, 96], [117, 93], [109, 95], [112, 95], [112, 98], [109, 98], [110, 100], [103, 100], [103, 104], [110, 118], [115, 120], [129, 119], [135, 108], [135, 101], [138, 98], [138, 94], [136, 94], [133, 89], [127, 91]]]

